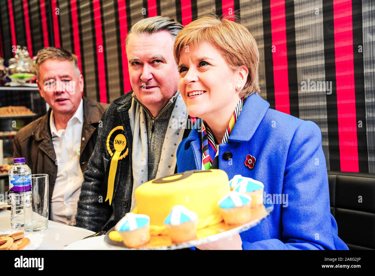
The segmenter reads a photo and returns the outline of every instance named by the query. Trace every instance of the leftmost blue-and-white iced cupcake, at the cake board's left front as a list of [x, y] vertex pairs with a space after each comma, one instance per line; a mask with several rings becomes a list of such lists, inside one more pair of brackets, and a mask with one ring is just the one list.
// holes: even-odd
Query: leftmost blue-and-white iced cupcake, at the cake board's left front
[[150, 241], [150, 217], [127, 213], [115, 226], [127, 247], [139, 247]]

